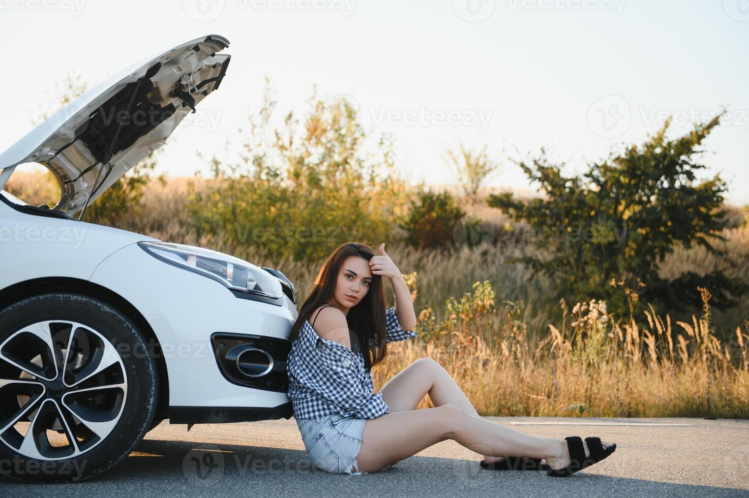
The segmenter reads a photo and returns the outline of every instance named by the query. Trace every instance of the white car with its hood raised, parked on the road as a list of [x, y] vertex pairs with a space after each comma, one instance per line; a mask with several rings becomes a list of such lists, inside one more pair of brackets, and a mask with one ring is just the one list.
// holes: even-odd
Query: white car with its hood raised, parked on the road
[[[0, 474], [96, 476], [163, 419], [291, 417], [297, 297], [281, 272], [70, 216], [219, 88], [227, 46], [158, 52], [0, 154]], [[24, 163], [57, 178], [53, 209], [1, 190]]]

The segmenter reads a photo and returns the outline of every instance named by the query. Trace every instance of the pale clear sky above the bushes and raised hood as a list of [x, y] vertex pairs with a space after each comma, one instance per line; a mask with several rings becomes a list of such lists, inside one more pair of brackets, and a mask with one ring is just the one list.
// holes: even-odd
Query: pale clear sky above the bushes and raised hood
[[[672, 134], [723, 106], [710, 172], [749, 203], [748, 0], [0, 0], [5, 100], [0, 149], [52, 106], [73, 71], [90, 84], [203, 34], [231, 41], [219, 91], [165, 146], [161, 168], [207, 172], [258, 109], [264, 76], [281, 112], [345, 95], [390, 132], [398, 166], [435, 185], [441, 151], [488, 144], [497, 157], [545, 147], [580, 171], [674, 115]], [[229, 154], [231, 157], [231, 154]], [[528, 189], [505, 161], [492, 185]]]

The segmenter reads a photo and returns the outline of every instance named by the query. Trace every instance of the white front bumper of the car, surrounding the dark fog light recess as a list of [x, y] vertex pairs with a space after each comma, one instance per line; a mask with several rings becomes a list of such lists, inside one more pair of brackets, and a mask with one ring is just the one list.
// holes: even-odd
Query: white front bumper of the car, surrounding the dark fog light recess
[[[282, 306], [239, 299], [219, 282], [165, 264], [137, 244], [102, 261], [90, 280], [130, 302], [154, 330], [169, 377], [170, 418], [218, 422], [210, 419], [216, 416], [235, 422], [291, 416], [283, 382], [273, 389], [232, 382], [219, 367], [211, 341], [220, 333], [288, 342], [297, 318], [288, 297]], [[277, 360], [285, 365], [285, 357]]]

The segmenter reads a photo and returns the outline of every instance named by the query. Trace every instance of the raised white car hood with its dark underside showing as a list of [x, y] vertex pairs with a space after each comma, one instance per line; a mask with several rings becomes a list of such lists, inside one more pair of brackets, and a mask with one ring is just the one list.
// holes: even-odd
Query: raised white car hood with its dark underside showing
[[215, 34], [201, 37], [86, 91], [0, 154], [0, 188], [19, 164], [40, 163], [60, 183], [55, 209], [78, 212], [89, 194], [90, 204], [219, 88], [231, 56], [216, 52], [228, 44]]

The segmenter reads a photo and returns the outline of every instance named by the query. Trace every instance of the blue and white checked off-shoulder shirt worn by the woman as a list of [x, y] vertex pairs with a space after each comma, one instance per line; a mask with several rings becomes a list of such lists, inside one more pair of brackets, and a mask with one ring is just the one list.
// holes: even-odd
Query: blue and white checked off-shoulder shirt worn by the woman
[[[385, 312], [386, 343], [416, 337], [398, 324], [395, 307]], [[353, 347], [353, 345], [352, 345]], [[297, 419], [342, 414], [374, 419], [388, 410], [382, 393], [372, 394], [372, 373], [364, 356], [343, 344], [321, 338], [304, 321], [287, 360], [288, 396]]]

